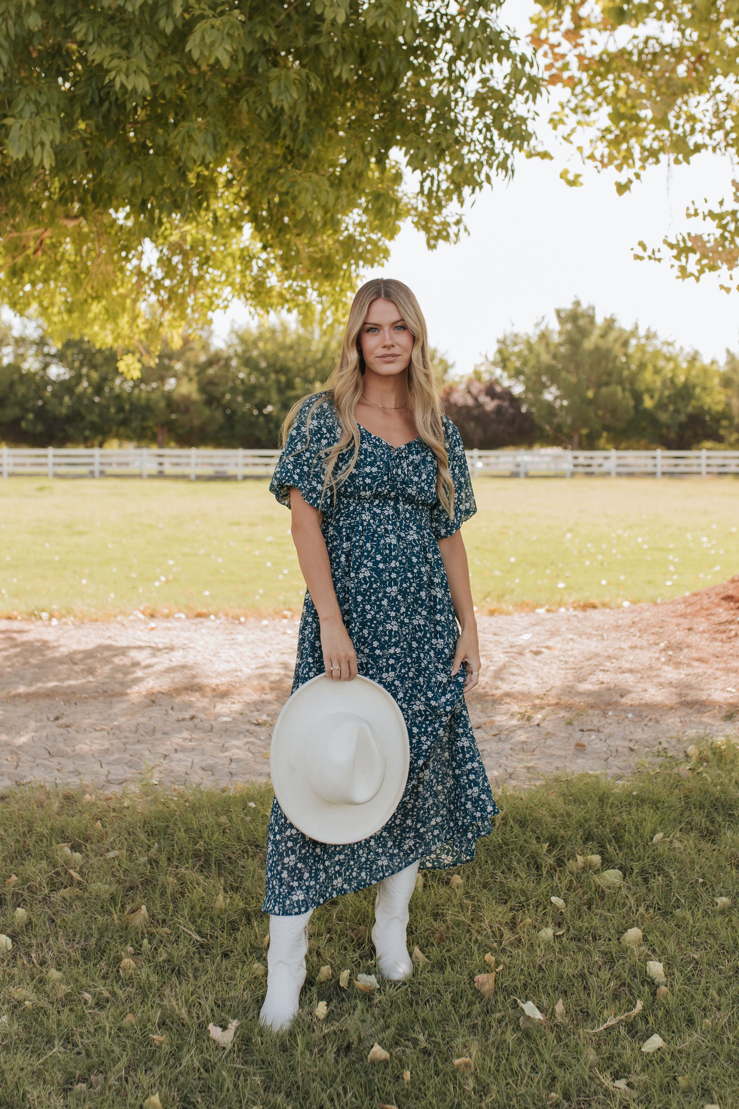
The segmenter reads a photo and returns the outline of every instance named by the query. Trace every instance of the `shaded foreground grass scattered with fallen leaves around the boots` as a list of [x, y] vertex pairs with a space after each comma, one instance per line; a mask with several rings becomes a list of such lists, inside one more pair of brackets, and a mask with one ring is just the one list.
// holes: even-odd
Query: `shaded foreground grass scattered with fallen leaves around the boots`
[[[449, 871], [427, 872], [411, 901], [410, 946], [430, 964], [369, 995], [341, 989], [341, 969], [374, 970], [372, 891], [337, 898], [314, 914], [301, 1011], [276, 1038], [257, 1021], [266, 787], [13, 788], [0, 802], [0, 928], [12, 940], [0, 953], [0, 1107], [85, 1106], [94, 1087], [100, 1109], [154, 1093], [163, 1109], [616, 1107], [629, 1095], [613, 1083], [626, 1079], [633, 1105], [729, 1109], [739, 1100], [738, 784], [737, 749], [712, 743], [625, 783], [585, 775], [504, 792], [494, 832], [459, 868], [461, 887]], [[623, 886], [575, 868], [577, 855], [595, 854]], [[150, 920], [134, 927], [126, 915], [142, 904]], [[553, 940], [538, 937], [544, 927]], [[632, 927], [644, 934], [638, 950], [619, 943]], [[486, 954], [500, 966], [490, 998], [474, 988]], [[664, 964], [663, 998], [647, 959]], [[317, 984], [324, 965], [332, 978]], [[522, 1028], [516, 998], [545, 1020]], [[589, 1030], [637, 1001], [636, 1016]], [[208, 1024], [232, 1019], [224, 1050]], [[655, 1032], [665, 1046], [646, 1055]], [[367, 1061], [376, 1041], [387, 1062]], [[466, 1072], [454, 1068], [461, 1057]]]

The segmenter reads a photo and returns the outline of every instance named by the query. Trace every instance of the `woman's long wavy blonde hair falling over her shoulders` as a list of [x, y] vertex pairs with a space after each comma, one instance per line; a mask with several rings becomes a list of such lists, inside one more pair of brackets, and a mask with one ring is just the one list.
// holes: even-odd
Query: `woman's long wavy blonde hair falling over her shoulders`
[[[355, 296], [343, 333], [341, 354], [326, 381], [326, 393], [316, 397], [316, 403], [308, 410], [306, 423], [308, 441], [310, 440], [310, 418], [316, 408], [329, 399], [333, 401], [333, 408], [341, 426], [341, 436], [338, 441], [332, 447], [325, 448], [327, 456], [324, 491], [330, 485], [331, 492], [336, 495], [338, 486], [347, 480], [359, 457], [360, 438], [355, 408], [362, 395], [365, 375], [360, 333], [370, 305], [373, 301], [379, 299], [392, 301], [413, 336], [413, 350], [408, 366], [410, 410], [419, 437], [431, 447], [437, 456], [437, 492], [440, 502], [451, 518], [454, 507], [454, 482], [449, 471], [444, 428], [441, 420], [442, 406], [434, 386], [425, 319], [408, 285], [391, 278], [377, 277], [373, 281], [368, 281]], [[308, 393], [300, 397], [288, 411], [280, 429], [280, 446], [287, 439], [298, 409], [312, 396], [316, 394]], [[351, 457], [340, 474], [336, 475], [335, 469], [339, 455], [348, 447], [352, 448]]]

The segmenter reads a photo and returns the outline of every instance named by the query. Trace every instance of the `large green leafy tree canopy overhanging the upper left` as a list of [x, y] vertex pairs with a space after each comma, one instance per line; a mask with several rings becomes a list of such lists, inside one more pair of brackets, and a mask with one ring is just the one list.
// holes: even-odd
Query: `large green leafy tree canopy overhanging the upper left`
[[129, 375], [243, 297], [343, 304], [531, 141], [501, 0], [0, 0], [0, 294]]

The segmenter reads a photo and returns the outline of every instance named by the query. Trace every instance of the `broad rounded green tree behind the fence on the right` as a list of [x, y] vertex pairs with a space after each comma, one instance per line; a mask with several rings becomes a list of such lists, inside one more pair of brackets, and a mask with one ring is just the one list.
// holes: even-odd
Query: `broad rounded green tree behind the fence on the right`
[[531, 411], [544, 442], [573, 449], [650, 447], [687, 450], [728, 430], [721, 372], [695, 350], [654, 332], [598, 323], [575, 301], [557, 308], [557, 328], [511, 332], [491, 363]]

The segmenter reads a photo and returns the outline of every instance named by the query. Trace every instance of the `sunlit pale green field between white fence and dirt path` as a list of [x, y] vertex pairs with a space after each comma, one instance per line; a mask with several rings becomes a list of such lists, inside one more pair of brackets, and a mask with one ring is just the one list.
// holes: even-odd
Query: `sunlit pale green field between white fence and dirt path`
[[[618, 606], [739, 572], [731, 478], [480, 478], [464, 527], [481, 612]], [[289, 513], [266, 481], [0, 485], [0, 615], [299, 611]]]

